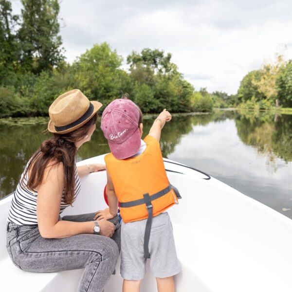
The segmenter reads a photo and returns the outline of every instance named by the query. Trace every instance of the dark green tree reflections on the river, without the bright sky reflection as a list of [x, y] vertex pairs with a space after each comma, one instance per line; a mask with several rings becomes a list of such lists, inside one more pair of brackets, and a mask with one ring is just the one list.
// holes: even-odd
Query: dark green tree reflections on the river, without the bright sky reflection
[[[143, 137], [155, 117], [145, 117]], [[277, 171], [276, 158], [286, 163], [292, 161], [292, 115], [234, 110], [215, 110], [209, 114], [174, 114], [171, 122], [166, 123], [163, 129], [161, 148], [164, 157], [173, 153], [182, 138], [192, 135], [196, 127], [204, 127], [211, 122], [220, 123], [226, 119], [235, 120], [237, 135], [245, 145], [254, 146], [259, 155], [267, 156], [270, 172]], [[40, 143], [50, 137], [50, 133], [43, 133], [47, 122], [47, 118], [0, 120], [0, 198], [16, 188], [28, 159]], [[110, 151], [99, 123], [100, 119], [91, 142], [79, 149], [78, 161]]]

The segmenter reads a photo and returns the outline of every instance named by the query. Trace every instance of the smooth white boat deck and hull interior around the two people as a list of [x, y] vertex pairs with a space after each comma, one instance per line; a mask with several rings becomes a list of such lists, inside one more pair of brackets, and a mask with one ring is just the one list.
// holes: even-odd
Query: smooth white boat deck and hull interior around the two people
[[[102, 163], [103, 156], [80, 162]], [[292, 220], [244, 196], [228, 185], [176, 164], [165, 163], [169, 181], [183, 197], [169, 209], [182, 273], [177, 292], [291, 292]], [[94, 212], [103, 201], [105, 172], [81, 180], [74, 207], [65, 214]], [[82, 270], [28, 273], [13, 265], [5, 249], [5, 226], [11, 198], [0, 201], [1, 291], [75, 291]], [[12, 288], [13, 287], [13, 288]], [[105, 292], [121, 291], [119, 263]], [[147, 269], [141, 292], [156, 291]]]

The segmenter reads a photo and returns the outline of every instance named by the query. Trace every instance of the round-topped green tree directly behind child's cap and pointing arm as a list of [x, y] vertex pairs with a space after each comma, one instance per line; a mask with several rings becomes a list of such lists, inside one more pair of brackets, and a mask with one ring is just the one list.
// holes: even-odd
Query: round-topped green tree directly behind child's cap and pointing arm
[[[142, 107], [144, 112], [157, 112], [164, 108], [175, 112], [191, 110], [190, 98], [194, 89], [171, 62], [171, 54], [147, 48], [140, 54], [132, 52], [127, 63], [130, 65], [129, 78], [134, 85], [130, 93], [134, 100], [140, 100], [141, 105], [147, 104], [146, 109]], [[147, 85], [143, 102], [142, 89], [137, 90], [142, 85]]]

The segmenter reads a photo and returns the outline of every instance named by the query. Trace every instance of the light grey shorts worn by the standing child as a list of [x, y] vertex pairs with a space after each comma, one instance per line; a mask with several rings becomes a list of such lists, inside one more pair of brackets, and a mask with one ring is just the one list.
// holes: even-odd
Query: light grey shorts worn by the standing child
[[[145, 276], [145, 226], [146, 219], [122, 222], [120, 271], [125, 280], [141, 280]], [[152, 219], [149, 253], [150, 269], [155, 277], [165, 278], [180, 273], [181, 266], [175, 250], [172, 225], [166, 212]]]

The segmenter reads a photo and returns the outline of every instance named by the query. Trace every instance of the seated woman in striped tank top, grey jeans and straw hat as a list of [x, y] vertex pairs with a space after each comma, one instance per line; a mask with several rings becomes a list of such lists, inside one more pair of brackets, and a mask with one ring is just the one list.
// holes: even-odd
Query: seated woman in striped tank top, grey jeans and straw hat
[[120, 249], [117, 217], [111, 222], [94, 220], [95, 213], [60, 217], [80, 191], [79, 177], [105, 169], [75, 165], [76, 151], [91, 139], [101, 106], [80, 90], [53, 102], [48, 130], [54, 136], [26, 165], [8, 215], [7, 249], [14, 264], [30, 272], [85, 268], [79, 292], [103, 291]]

